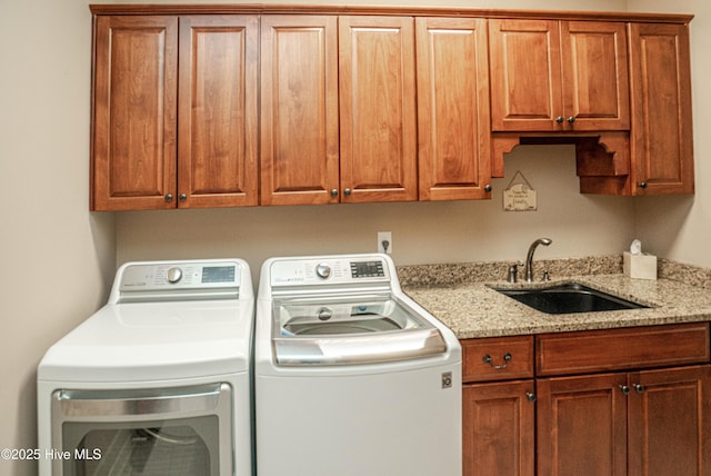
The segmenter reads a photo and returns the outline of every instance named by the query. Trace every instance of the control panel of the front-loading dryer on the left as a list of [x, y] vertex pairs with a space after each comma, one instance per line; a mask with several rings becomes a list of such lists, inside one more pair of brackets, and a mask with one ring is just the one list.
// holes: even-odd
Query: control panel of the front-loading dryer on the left
[[237, 262], [160, 262], [127, 266], [121, 275], [121, 291], [160, 291], [239, 287]]

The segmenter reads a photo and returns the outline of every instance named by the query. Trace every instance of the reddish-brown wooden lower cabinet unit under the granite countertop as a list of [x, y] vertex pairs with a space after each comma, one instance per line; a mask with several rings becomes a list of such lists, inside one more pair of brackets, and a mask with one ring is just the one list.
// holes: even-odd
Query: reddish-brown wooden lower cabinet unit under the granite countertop
[[708, 323], [462, 341], [463, 474], [711, 476], [710, 345]]

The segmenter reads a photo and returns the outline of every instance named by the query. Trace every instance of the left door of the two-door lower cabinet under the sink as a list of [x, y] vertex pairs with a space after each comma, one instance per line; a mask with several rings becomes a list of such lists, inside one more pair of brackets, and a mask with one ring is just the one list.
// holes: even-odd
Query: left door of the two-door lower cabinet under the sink
[[537, 380], [538, 474], [627, 474], [625, 374]]

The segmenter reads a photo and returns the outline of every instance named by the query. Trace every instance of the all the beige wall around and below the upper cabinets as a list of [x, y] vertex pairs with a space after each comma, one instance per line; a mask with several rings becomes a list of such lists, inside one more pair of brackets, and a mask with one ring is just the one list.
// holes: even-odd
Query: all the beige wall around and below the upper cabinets
[[[88, 211], [88, 3], [0, 0], [0, 448], [36, 445], [37, 364], [53, 341], [104, 301], [116, 264], [124, 260], [233, 255], [258, 268], [276, 254], [372, 250], [375, 232], [391, 230], [399, 264], [522, 259], [539, 236], [554, 240], [539, 251], [541, 257], [605, 255], [639, 235], [662, 256], [711, 266], [702, 238], [711, 228], [711, 165], [703, 163], [711, 139], [702, 133], [709, 119], [701, 115], [711, 105], [702, 89], [708, 67], [700, 53], [709, 50], [709, 33], [702, 31], [711, 24], [705, 1], [545, 2], [559, 10], [624, 10], [629, 3], [631, 10], [697, 13], [699, 191], [693, 198], [581, 196], [570, 149], [528, 147], [505, 159], [507, 177], [494, 181], [491, 201], [124, 214]], [[388, 3], [541, 8], [539, 0]], [[538, 211], [501, 211], [500, 190], [515, 170], [538, 190]], [[31, 463], [0, 460], [2, 475], [36, 470]]]

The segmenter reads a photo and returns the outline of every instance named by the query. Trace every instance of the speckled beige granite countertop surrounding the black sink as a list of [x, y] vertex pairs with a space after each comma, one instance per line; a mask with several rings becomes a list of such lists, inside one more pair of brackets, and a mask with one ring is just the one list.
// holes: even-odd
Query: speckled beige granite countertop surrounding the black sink
[[[532, 285], [491, 279], [487, 272], [474, 278], [470, 276], [469, 279], [461, 279], [459, 276], [449, 281], [441, 279], [441, 276], [437, 279], [431, 276], [422, 279], [422, 275], [413, 269], [415, 268], [404, 272], [407, 279], [402, 282], [402, 289], [451, 328], [460, 339], [711, 320], [711, 290], [708, 288], [663, 277], [657, 280], [630, 279], [621, 270], [605, 272], [618, 270], [614, 262], [611, 267], [595, 267], [593, 272], [588, 274], [558, 272], [550, 281]], [[580, 270], [580, 267], [569, 269]], [[564, 269], [559, 269], [562, 270]], [[451, 268], [447, 269], [447, 274], [458, 276], [457, 272], [452, 274]], [[418, 279], [412, 279], [413, 275]], [[492, 289], [492, 286], [525, 288], [569, 281], [580, 282], [649, 308], [551, 315]]]

